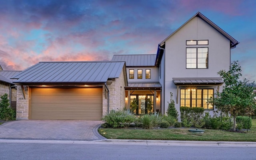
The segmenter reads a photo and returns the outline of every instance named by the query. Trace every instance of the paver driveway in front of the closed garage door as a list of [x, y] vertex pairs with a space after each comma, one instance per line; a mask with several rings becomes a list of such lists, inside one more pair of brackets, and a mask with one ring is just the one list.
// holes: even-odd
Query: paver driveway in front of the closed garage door
[[101, 140], [97, 129], [102, 121], [18, 120], [0, 125], [0, 139]]

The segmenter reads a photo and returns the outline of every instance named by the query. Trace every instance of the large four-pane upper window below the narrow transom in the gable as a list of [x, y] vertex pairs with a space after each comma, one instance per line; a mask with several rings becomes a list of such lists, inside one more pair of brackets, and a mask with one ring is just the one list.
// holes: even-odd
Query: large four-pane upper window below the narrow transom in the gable
[[186, 48], [186, 68], [208, 68], [208, 47]]

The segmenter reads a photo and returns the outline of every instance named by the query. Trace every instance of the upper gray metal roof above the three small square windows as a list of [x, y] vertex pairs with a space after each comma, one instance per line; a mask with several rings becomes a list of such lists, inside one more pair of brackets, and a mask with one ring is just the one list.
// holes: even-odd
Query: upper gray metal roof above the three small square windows
[[155, 66], [156, 55], [114, 55], [111, 61], [125, 61], [126, 66]]

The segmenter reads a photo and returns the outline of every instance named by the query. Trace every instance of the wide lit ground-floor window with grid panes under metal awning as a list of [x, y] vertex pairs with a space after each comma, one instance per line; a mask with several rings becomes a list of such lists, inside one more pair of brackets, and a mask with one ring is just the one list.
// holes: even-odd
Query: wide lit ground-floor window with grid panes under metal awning
[[213, 105], [207, 104], [207, 101], [213, 94], [213, 89], [180, 89], [180, 106], [212, 110]]

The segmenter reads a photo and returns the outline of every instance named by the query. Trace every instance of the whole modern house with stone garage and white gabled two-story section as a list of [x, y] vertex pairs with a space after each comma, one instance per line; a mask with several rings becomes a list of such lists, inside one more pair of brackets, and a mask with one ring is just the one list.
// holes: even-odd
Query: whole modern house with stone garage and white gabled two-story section
[[198, 12], [158, 45], [156, 55], [40, 62], [14, 77], [20, 85], [17, 119], [100, 119], [110, 109], [130, 108], [134, 98], [137, 115], [165, 114], [170, 92], [179, 115], [181, 106], [203, 107], [213, 115], [214, 106], [206, 102], [222, 90], [217, 72], [229, 69], [236, 45]]

